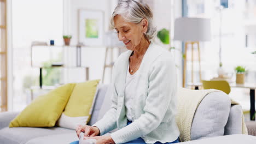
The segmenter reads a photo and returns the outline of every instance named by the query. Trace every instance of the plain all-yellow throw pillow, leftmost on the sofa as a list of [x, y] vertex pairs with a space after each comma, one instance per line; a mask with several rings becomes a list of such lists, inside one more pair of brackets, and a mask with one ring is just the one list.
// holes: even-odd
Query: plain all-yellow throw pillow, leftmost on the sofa
[[32, 101], [9, 127], [53, 127], [65, 109], [75, 83], [68, 83]]

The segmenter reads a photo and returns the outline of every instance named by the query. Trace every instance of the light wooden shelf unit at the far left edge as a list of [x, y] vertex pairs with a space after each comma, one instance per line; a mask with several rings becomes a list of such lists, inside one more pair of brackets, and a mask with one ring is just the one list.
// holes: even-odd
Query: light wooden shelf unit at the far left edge
[[7, 4], [6, 0], [0, 1], [0, 112], [7, 111], [8, 103], [8, 93], [7, 93]]

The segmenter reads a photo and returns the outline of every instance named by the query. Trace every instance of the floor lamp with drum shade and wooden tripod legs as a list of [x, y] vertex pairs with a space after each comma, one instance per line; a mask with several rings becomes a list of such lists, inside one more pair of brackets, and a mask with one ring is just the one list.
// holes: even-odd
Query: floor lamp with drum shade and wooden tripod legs
[[201, 59], [199, 41], [211, 40], [211, 20], [197, 17], [180, 17], [174, 22], [174, 40], [185, 42], [184, 63], [183, 63], [183, 81], [182, 86], [185, 87], [186, 71], [187, 71], [187, 50], [191, 45], [191, 82], [194, 82], [194, 45], [197, 46], [199, 56], [199, 76], [201, 76]]

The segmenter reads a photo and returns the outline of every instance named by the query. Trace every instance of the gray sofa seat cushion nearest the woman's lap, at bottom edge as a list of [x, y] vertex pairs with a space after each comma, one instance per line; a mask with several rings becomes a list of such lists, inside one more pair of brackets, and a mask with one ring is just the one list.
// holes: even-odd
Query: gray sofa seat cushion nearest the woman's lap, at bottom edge
[[67, 134], [58, 134], [58, 135], [48, 135], [36, 137], [26, 144], [46, 144], [46, 143], [54, 143], [54, 144], [63, 144], [63, 143], [71, 143], [73, 141], [78, 141], [77, 134], [75, 131], [73, 133]]

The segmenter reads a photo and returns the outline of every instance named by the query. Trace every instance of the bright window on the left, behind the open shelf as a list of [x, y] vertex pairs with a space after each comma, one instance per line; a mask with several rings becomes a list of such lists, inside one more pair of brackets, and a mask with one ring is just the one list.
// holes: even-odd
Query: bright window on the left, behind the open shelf
[[[31, 67], [32, 41], [47, 41], [49, 44], [53, 39], [56, 45], [63, 43], [63, 1], [13, 0], [12, 14], [13, 109], [22, 110], [30, 103], [30, 87], [39, 86], [39, 68]], [[55, 70], [50, 74], [56, 73]]]

